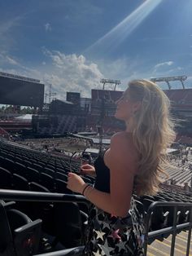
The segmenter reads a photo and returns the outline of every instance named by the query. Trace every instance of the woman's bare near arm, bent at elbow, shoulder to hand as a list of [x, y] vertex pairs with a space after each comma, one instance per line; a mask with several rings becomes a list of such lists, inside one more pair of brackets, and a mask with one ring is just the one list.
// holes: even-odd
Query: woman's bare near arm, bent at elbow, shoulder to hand
[[[127, 145], [125, 144], [125, 147]], [[126, 152], [124, 154], [124, 150]], [[98, 208], [116, 216], [125, 217], [130, 207], [133, 190], [134, 161], [119, 135], [112, 137], [111, 148], [107, 153], [107, 166], [110, 168], [110, 193], [86, 188], [85, 197]], [[126, 156], [126, 157], [125, 157]], [[75, 192], [83, 192], [86, 183], [76, 174], [69, 174], [68, 188]], [[76, 179], [76, 181], [74, 180]], [[76, 185], [78, 183], [78, 186]], [[78, 188], [77, 188], [78, 187]], [[76, 189], [78, 191], [76, 191]]]

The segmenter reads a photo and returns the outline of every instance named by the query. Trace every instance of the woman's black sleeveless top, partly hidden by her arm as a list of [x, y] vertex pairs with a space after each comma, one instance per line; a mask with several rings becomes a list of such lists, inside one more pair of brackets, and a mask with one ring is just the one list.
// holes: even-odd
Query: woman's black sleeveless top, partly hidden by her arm
[[110, 192], [110, 170], [105, 165], [104, 162], [104, 154], [105, 152], [101, 152], [98, 155], [98, 158], [94, 161], [94, 168], [96, 172], [96, 179], [94, 183], [94, 188], [102, 191], [102, 192]]

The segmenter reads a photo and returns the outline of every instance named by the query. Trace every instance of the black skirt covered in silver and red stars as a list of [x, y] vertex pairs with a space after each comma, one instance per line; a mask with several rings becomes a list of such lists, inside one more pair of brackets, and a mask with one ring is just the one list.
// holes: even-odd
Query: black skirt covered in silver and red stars
[[142, 218], [132, 198], [126, 218], [116, 218], [91, 206], [85, 239], [85, 255], [143, 256]]

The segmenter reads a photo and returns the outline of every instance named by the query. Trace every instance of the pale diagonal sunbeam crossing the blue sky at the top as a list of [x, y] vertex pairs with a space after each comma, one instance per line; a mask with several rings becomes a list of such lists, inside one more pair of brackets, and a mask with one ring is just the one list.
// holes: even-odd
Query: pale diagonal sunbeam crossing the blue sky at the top
[[120, 43], [123, 42], [124, 39], [127, 38], [144, 19], [146, 19], [146, 17], [151, 14], [151, 11], [155, 10], [155, 7], [162, 1], [163, 0], [146, 0], [141, 6], [137, 7], [135, 11], [117, 24], [116, 27], [111, 29], [102, 38], [99, 38], [97, 42], [94, 42], [94, 44], [89, 46], [85, 52], [96, 51], [98, 50], [98, 47], [110, 51], [116, 48], [116, 46], [119, 46]]

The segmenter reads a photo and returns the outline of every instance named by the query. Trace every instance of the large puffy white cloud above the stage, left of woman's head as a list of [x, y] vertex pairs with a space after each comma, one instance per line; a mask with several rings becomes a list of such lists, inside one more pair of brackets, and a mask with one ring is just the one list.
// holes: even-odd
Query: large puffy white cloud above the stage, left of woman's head
[[58, 93], [58, 98], [64, 98], [66, 91], [79, 91], [81, 96], [90, 96], [91, 89], [100, 86], [103, 74], [98, 65], [89, 62], [84, 55], [65, 55], [60, 51], [43, 53], [50, 58], [50, 72], [44, 73], [43, 80], [51, 83]]

